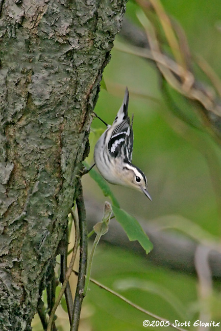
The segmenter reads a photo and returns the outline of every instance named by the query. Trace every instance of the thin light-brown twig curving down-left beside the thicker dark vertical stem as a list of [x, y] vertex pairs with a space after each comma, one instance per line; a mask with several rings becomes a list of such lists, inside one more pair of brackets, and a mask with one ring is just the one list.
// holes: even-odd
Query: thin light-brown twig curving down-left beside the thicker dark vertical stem
[[52, 322], [53, 322], [53, 318], [54, 318], [56, 309], [57, 309], [57, 307], [59, 305], [59, 302], [60, 302], [60, 300], [62, 298], [62, 295], [64, 294], [65, 288], [67, 286], [69, 277], [70, 277], [71, 272], [72, 272], [73, 264], [75, 263], [75, 258], [76, 258], [76, 254], [77, 254], [77, 250], [78, 250], [78, 240], [79, 240], [79, 227], [78, 227], [78, 222], [76, 220], [76, 217], [73, 217], [73, 222], [75, 223], [75, 245], [73, 246], [72, 257], [71, 257], [70, 264], [69, 264], [69, 267], [68, 267], [67, 272], [66, 272], [66, 275], [65, 275], [65, 280], [64, 280], [64, 282], [62, 284], [62, 287], [61, 287], [61, 290], [59, 292], [58, 298], [57, 298], [57, 300], [55, 302], [55, 305], [54, 305], [54, 307], [52, 309], [50, 318], [48, 320], [47, 331], [51, 331]]

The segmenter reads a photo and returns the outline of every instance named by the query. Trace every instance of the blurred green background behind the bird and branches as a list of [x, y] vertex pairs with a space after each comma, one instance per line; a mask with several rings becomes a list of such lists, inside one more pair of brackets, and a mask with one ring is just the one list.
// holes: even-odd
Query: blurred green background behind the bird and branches
[[[220, 0], [162, 0], [161, 3], [167, 14], [183, 27], [191, 53], [202, 56], [220, 77]], [[137, 10], [138, 5], [129, 1], [125, 16], [136, 21]], [[124, 42], [120, 35], [116, 41]], [[184, 216], [219, 240], [220, 200], [214, 190], [214, 182], [220, 176], [219, 146], [206, 130], [179, 126], [180, 122], [163, 99], [159, 74], [153, 64], [115, 48], [111, 54], [112, 59], [104, 71], [107, 91], [101, 90], [95, 112], [111, 124], [128, 87], [129, 115], [134, 114], [133, 163], [148, 178], [153, 199], [150, 202], [138, 191], [111, 185], [120, 207], [146, 222], [168, 215]], [[199, 80], [209, 83], [205, 75], [196, 72]], [[193, 121], [197, 122], [199, 115], [192, 104], [177, 93], [174, 98], [182, 112], [188, 117], [192, 114]], [[93, 119], [92, 128], [104, 126]], [[89, 160], [92, 164], [92, 156]], [[103, 208], [106, 198], [88, 175], [83, 178], [83, 188], [85, 195], [101, 202]], [[188, 225], [186, 231], [189, 231]], [[203, 297], [197, 276], [152, 265], [120, 247], [100, 244], [91, 276], [154, 314], [173, 322], [176, 319], [191, 321], [190, 329], [200, 329], [193, 327], [192, 322], [202, 316], [208, 316], [209, 322], [221, 321], [218, 282], [214, 282], [210, 294]], [[143, 320], [153, 320], [93, 284], [83, 306], [80, 330], [139, 331], [145, 329]], [[60, 329], [66, 330], [65, 317], [62, 318]], [[34, 331], [41, 329], [37, 320], [34, 325]]]

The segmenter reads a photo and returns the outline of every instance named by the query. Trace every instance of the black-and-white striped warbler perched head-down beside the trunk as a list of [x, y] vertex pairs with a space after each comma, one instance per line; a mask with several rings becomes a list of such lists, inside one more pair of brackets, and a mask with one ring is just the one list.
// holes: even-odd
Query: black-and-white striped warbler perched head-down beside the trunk
[[[150, 200], [146, 189], [148, 182], [143, 172], [131, 163], [133, 152], [133, 115], [128, 116], [129, 93], [126, 88], [124, 101], [107, 130], [94, 148], [94, 161], [101, 175], [111, 184], [124, 185], [141, 190]], [[96, 115], [96, 114], [95, 114]], [[98, 116], [97, 116], [98, 117]]]

